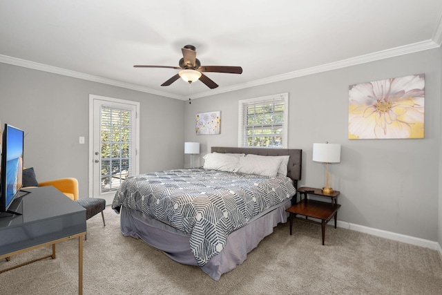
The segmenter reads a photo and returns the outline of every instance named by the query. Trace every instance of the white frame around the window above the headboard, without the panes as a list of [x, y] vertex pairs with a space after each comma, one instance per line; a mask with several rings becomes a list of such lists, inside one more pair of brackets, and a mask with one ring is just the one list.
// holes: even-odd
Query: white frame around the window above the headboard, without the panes
[[289, 127], [289, 93], [279, 93], [276, 95], [267, 95], [262, 97], [253, 97], [249, 99], [242, 99], [238, 102], [238, 146], [239, 147], [249, 147], [247, 146], [246, 140], [246, 126], [245, 126], [245, 116], [244, 108], [249, 104], [256, 104], [257, 102], [266, 102], [272, 99], [284, 99], [284, 122], [282, 123], [282, 142], [281, 146], [269, 146], [275, 148], [287, 149], [288, 146], [288, 127]]

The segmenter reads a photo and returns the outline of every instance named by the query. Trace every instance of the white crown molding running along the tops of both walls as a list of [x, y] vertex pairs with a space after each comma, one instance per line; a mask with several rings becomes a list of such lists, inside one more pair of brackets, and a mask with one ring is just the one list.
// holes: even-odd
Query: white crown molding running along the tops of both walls
[[[437, 26], [433, 39], [427, 40], [427, 41], [421, 41], [414, 44], [409, 44], [406, 46], [399, 46], [396, 48], [391, 48], [387, 50], [378, 51], [376, 53], [370, 53], [367, 55], [361, 55], [358, 57], [352, 57], [349, 59], [343, 59], [340, 61], [332, 62], [329, 64], [323, 64], [320, 66], [314, 66], [311, 68], [305, 68], [302, 70], [296, 70], [294, 72], [285, 73], [282, 75], [276, 75], [272, 77], [266, 77], [263, 79], [258, 79], [252, 82], [247, 82], [243, 84], [236, 84], [233, 86], [227, 86], [223, 88], [218, 88], [210, 91], [205, 91], [202, 93], [198, 93], [195, 95], [192, 95], [192, 99], [202, 98], [202, 97], [208, 97], [212, 95], [217, 95], [221, 93], [227, 93], [231, 91], [238, 91], [244, 88], [251, 88], [254, 86], [261, 86], [265, 84], [270, 84], [274, 82], [280, 82], [285, 81], [288, 79], [294, 79], [298, 77], [304, 77], [307, 75], [314, 75], [317, 73], [323, 73], [327, 72], [329, 70], [337, 70], [339, 68], [347, 68], [349, 66], [356, 66], [358, 64], [366, 64], [371, 61], [381, 60], [381, 59], [387, 59], [391, 57], [398, 57], [401, 55], [407, 55], [410, 53], [416, 53], [423, 50], [429, 50], [433, 48], [439, 48], [442, 44], [442, 17], [439, 19], [439, 25]], [[73, 70], [66, 70], [64, 68], [57, 68], [55, 66], [48, 66], [46, 64], [39, 64], [33, 61], [27, 61], [24, 59], [17, 59], [15, 57], [8, 57], [6, 55], [0, 55], [0, 62], [3, 62], [5, 64], [13, 64], [15, 66], [23, 66], [25, 68], [33, 68], [35, 70], [42, 70], [49, 73], [55, 73], [59, 75], [65, 75], [69, 77], [75, 77], [78, 79], [84, 79], [92, 82], [98, 82], [102, 84], [108, 84], [112, 86], [127, 88], [135, 91], [140, 91], [144, 93], [151, 93], [154, 95], [160, 95], [164, 97], [170, 97], [174, 99], [180, 99], [180, 100], [187, 100], [189, 99], [189, 95], [175, 95], [173, 93], [167, 93], [164, 91], [156, 91], [152, 88], [147, 88], [143, 86], [138, 86], [135, 84], [129, 84], [124, 82], [119, 82], [113, 79], [106, 79], [103, 77], [97, 77], [94, 75], [88, 75], [84, 73], [75, 72]]]

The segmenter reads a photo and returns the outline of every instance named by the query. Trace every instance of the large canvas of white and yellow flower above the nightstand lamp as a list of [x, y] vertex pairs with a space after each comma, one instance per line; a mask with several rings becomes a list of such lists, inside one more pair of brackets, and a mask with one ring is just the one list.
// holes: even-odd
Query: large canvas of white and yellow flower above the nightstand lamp
[[349, 139], [423, 138], [425, 75], [349, 86]]

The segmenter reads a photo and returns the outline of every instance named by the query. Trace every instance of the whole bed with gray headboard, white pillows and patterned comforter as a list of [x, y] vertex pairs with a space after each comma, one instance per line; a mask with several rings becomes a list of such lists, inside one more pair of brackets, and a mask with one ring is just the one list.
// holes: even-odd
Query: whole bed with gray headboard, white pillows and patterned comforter
[[[246, 158], [254, 158], [261, 168], [253, 164], [253, 169], [265, 175], [251, 174]], [[301, 177], [302, 151], [212, 147], [204, 160], [205, 169], [128, 178], [115, 193], [112, 208], [121, 215], [124, 236], [140, 238], [219, 280], [244, 262], [273, 227], [287, 222], [285, 209]], [[275, 165], [279, 169], [273, 175]]]

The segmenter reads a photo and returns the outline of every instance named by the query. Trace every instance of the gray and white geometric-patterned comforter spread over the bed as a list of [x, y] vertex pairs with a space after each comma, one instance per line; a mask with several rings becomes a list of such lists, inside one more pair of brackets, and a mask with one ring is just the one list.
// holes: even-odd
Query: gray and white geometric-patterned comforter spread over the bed
[[260, 212], [296, 193], [287, 177], [182, 169], [128, 178], [112, 208], [131, 208], [190, 236], [198, 265], [222, 251], [227, 236]]

